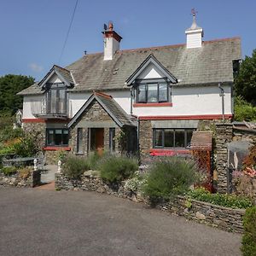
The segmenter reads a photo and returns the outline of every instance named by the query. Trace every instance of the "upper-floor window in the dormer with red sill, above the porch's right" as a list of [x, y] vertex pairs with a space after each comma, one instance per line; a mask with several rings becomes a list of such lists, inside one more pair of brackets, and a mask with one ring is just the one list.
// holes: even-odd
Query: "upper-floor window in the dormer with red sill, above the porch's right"
[[168, 102], [168, 86], [166, 83], [148, 83], [137, 86], [137, 103]]

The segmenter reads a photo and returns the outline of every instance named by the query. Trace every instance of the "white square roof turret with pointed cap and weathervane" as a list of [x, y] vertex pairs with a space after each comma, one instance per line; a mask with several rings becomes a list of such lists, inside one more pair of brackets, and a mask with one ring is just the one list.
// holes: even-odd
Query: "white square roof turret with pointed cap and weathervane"
[[185, 32], [187, 35], [187, 49], [201, 47], [202, 37], [204, 36], [203, 29], [200, 26], [196, 25], [195, 9], [192, 9], [192, 14], [193, 14], [192, 26], [190, 26]]

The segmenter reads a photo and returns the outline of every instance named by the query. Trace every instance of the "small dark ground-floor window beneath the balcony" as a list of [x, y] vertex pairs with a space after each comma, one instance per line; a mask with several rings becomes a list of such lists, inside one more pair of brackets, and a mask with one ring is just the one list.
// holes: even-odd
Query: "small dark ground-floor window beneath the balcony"
[[67, 129], [46, 129], [47, 146], [67, 146], [68, 130]]

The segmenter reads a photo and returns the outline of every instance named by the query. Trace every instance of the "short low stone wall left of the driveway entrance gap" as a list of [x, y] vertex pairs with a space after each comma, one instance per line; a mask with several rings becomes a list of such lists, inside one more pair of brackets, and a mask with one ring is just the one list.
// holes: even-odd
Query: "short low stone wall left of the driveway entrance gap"
[[40, 185], [41, 174], [40, 171], [30, 172], [29, 177], [21, 177], [19, 172], [15, 175], [5, 176], [3, 173], [0, 173], [0, 186], [3, 187], [36, 187]]

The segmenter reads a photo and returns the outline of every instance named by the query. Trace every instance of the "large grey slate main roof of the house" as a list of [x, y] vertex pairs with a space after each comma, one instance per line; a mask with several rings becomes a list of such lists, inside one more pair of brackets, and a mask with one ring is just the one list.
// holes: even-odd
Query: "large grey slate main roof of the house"
[[[233, 82], [233, 60], [241, 59], [240, 38], [224, 38], [202, 43], [201, 48], [186, 49], [186, 44], [119, 50], [112, 61], [103, 53], [84, 55], [66, 67], [76, 82], [72, 91], [120, 90], [148, 55], [178, 79], [174, 86]], [[31, 92], [34, 87], [28, 92]]]

